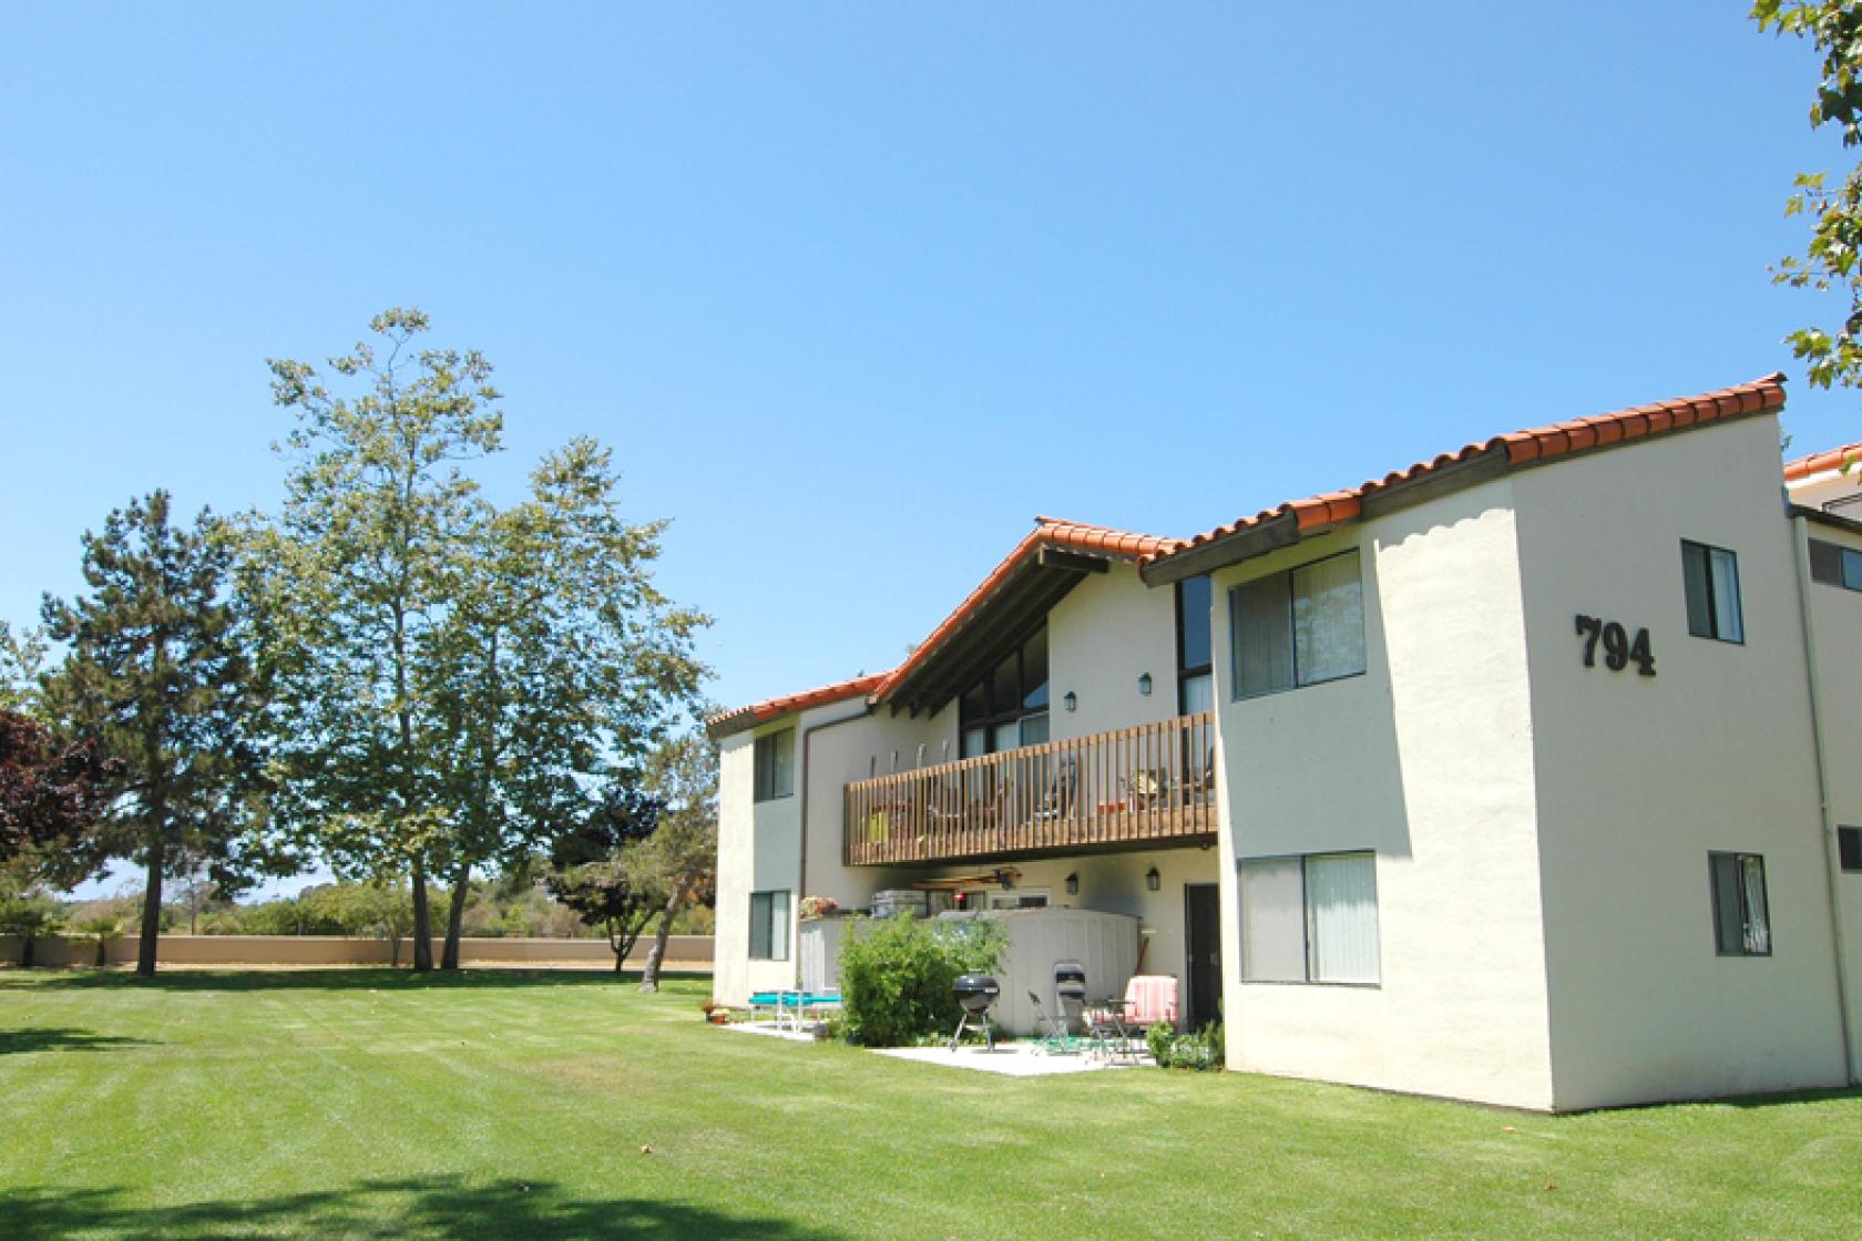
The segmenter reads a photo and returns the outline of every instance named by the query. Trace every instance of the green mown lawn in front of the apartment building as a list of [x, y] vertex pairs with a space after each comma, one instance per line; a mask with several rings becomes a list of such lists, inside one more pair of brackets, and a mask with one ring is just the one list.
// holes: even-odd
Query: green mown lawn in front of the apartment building
[[1856, 1092], [1544, 1118], [1238, 1074], [1019, 1081], [711, 1029], [708, 990], [0, 971], [0, 1237], [1862, 1228]]

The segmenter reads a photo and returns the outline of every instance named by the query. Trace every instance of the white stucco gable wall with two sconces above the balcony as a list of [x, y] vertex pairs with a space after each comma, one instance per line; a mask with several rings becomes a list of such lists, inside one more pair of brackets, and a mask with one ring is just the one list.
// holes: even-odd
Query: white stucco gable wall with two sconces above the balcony
[[[1147, 672], [1149, 696], [1138, 692]], [[1076, 711], [1063, 705], [1069, 690]], [[1048, 701], [1056, 741], [1175, 716], [1175, 592], [1147, 588], [1130, 564], [1089, 573], [1048, 612]]]

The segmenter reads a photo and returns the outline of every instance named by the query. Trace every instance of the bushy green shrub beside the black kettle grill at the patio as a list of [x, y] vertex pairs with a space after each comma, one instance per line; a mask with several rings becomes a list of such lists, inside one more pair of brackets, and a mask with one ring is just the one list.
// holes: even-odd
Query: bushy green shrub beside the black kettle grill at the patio
[[987, 919], [858, 921], [840, 945], [840, 999], [849, 1042], [905, 1048], [957, 1029], [963, 1007], [951, 982], [991, 973], [1002, 960], [1002, 927]]

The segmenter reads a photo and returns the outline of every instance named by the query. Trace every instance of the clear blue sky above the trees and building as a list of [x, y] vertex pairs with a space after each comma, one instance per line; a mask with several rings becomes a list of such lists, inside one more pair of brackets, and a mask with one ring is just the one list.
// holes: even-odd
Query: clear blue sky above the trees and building
[[[417, 303], [501, 493], [588, 432], [676, 521], [713, 698], [879, 670], [1037, 512], [1190, 534], [1791, 372], [1814, 76], [1698, 0], [17, 6], [0, 618], [136, 493], [272, 506], [264, 359]], [[1795, 383], [1793, 447], [1855, 404]]]

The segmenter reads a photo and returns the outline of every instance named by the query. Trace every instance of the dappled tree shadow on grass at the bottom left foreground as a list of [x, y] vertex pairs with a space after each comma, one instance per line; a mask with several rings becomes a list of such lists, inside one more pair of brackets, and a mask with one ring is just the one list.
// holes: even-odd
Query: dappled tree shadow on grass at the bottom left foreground
[[633, 1198], [566, 1196], [549, 1181], [458, 1178], [361, 1181], [277, 1198], [138, 1208], [114, 1189], [20, 1189], [0, 1194], [7, 1237], [438, 1237], [570, 1241], [572, 1237], [700, 1237], [782, 1241], [836, 1237], [810, 1221], [726, 1215], [709, 1208]]

